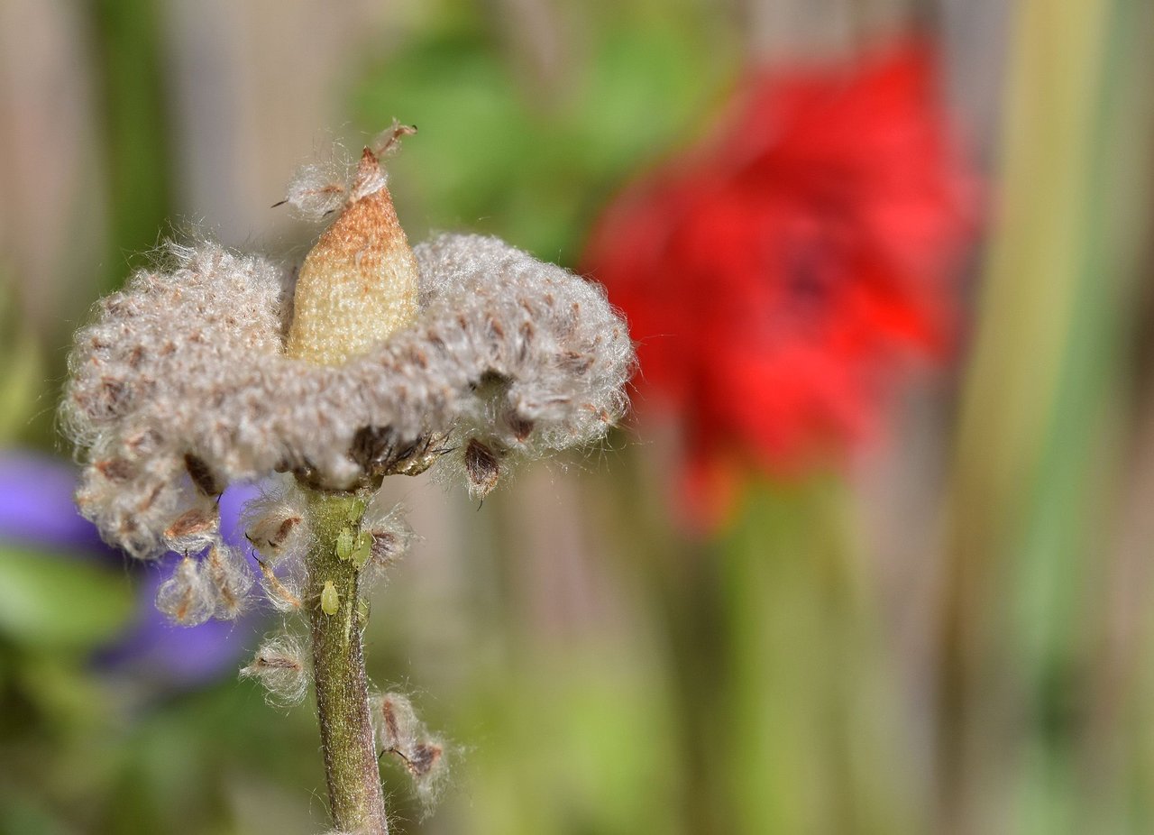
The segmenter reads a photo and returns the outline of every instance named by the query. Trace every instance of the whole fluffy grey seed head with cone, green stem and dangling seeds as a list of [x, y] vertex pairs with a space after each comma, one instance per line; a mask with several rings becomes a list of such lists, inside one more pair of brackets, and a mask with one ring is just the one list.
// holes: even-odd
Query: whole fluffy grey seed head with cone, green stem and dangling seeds
[[61, 407], [82, 513], [133, 556], [185, 552], [157, 596], [178, 622], [245, 609], [255, 573], [220, 539], [218, 500], [271, 484], [243, 530], [265, 596], [307, 616], [313, 669], [280, 635], [241, 677], [292, 703], [312, 673], [338, 832], [388, 830], [372, 717], [426, 807], [447, 773], [407, 699], [369, 703], [365, 592], [412, 540], [381, 479], [449, 464], [485, 495], [515, 457], [601, 437], [634, 363], [600, 286], [493, 238], [410, 249], [381, 167], [407, 133], [395, 124], [351, 178], [294, 179], [285, 202], [335, 215], [298, 270], [172, 246], [100, 301]]

